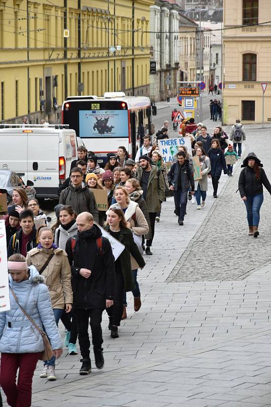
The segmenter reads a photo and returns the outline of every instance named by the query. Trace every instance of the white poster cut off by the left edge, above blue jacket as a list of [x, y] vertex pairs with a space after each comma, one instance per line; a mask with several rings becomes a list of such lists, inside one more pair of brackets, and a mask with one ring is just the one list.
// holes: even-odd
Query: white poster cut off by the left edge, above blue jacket
[[0, 312], [10, 310], [9, 274], [5, 221], [0, 220]]

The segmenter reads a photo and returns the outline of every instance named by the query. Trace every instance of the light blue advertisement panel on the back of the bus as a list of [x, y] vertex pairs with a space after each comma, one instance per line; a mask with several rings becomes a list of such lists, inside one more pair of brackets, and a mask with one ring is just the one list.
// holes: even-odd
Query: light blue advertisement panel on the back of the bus
[[128, 137], [128, 111], [79, 110], [79, 135], [82, 138]]

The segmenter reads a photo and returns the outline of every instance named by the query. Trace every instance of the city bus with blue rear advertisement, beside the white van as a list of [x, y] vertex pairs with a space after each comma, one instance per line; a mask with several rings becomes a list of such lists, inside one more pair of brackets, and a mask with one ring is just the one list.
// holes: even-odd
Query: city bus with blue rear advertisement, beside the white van
[[124, 146], [134, 158], [145, 134], [150, 134], [152, 110], [147, 97], [126, 97], [123, 92], [97, 96], [69, 96], [62, 106], [62, 123], [75, 130], [98, 163], [107, 162], [107, 153]]

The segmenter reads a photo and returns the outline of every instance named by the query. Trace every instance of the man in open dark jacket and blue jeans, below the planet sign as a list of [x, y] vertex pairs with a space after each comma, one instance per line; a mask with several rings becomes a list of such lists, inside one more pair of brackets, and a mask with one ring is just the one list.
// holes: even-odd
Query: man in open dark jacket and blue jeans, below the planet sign
[[168, 171], [168, 182], [170, 190], [173, 191], [178, 224], [183, 225], [186, 214], [187, 194], [191, 185], [191, 194], [194, 195], [195, 182], [192, 167], [183, 151], [177, 153], [177, 160]]

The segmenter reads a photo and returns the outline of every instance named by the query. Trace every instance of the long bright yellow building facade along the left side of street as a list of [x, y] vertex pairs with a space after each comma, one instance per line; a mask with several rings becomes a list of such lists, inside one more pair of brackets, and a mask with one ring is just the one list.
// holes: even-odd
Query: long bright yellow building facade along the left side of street
[[60, 120], [69, 95], [148, 95], [152, 4], [0, 1], [0, 121]]

